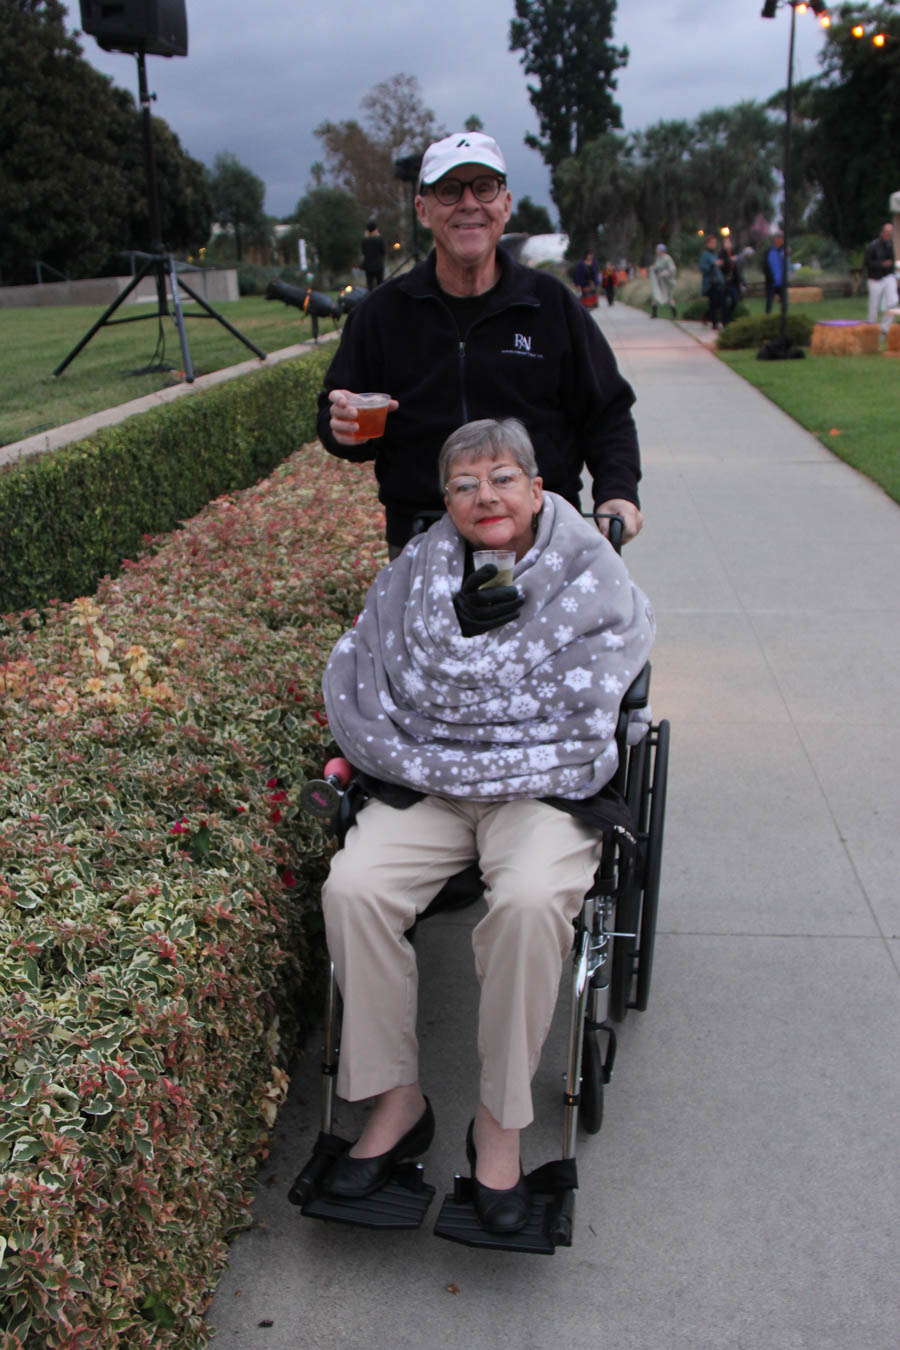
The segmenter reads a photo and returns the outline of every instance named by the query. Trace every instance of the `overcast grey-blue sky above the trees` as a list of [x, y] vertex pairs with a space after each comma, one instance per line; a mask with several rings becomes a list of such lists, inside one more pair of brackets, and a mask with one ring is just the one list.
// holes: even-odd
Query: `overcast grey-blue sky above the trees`
[[[791, 12], [761, 18], [761, 0], [619, 0], [614, 42], [629, 47], [617, 103], [626, 131], [692, 119], [742, 99], [766, 100], [787, 84]], [[509, 51], [513, 0], [186, 0], [188, 57], [147, 58], [154, 113], [184, 148], [212, 166], [232, 151], [266, 184], [266, 209], [291, 212], [321, 159], [313, 128], [360, 117], [379, 80], [416, 76], [448, 131], [478, 113], [497, 136], [513, 197], [553, 215], [546, 169], [524, 143], [537, 131], [518, 54]], [[80, 7], [69, 3], [72, 27]], [[135, 58], [84, 55], [136, 94]], [[823, 34], [808, 11], [796, 20], [795, 80], [819, 70]]]

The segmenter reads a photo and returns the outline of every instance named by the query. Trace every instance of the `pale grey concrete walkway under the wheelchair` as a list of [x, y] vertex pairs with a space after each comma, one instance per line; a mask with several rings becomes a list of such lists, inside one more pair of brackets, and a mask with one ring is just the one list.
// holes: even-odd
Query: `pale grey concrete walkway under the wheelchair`
[[[387, 1237], [286, 1203], [317, 1131], [312, 1046], [210, 1310], [223, 1350], [896, 1350], [897, 508], [684, 328], [598, 320], [637, 390], [627, 562], [658, 614], [672, 765], [650, 1006], [580, 1146], [573, 1246], [432, 1235], [476, 1084], [472, 919], [437, 919], [418, 949], [439, 1199]], [[526, 1169], [559, 1153], [563, 1013]]]

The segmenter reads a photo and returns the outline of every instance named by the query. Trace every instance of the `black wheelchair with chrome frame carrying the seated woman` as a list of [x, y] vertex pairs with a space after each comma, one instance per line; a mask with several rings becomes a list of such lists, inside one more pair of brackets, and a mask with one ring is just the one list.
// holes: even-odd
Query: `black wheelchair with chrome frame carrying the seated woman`
[[[615, 537], [613, 543], [617, 547]], [[457, 1174], [434, 1226], [437, 1237], [474, 1247], [536, 1254], [552, 1254], [557, 1246], [572, 1245], [579, 1127], [586, 1134], [599, 1131], [604, 1089], [615, 1064], [615, 1023], [621, 1023], [629, 1010], [644, 1011], [650, 991], [669, 724], [649, 721], [649, 698], [648, 663], [622, 699], [615, 729], [618, 768], [611, 787], [626, 805], [623, 817], [630, 819], [630, 825], [615, 824], [603, 830], [594, 883], [575, 922], [561, 1156], [526, 1177], [532, 1210], [521, 1233], [483, 1230], [471, 1202], [471, 1181]], [[641, 728], [644, 734], [637, 737], [634, 729]], [[339, 842], [343, 842], [366, 799], [351, 765], [340, 759], [331, 760], [325, 765], [325, 778], [306, 783], [301, 794], [304, 809], [328, 821]], [[480, 894], [480, 873], [474, 863], [444, 883], [420, 915], [417, 926], [433, 914], [475, 903]], [[414, 930], [407, 937], [414, 937]], [[425, 1183], [421, 1162], [399, 1162], [389, 1183], [363, 1199], [337, 1199], [320, 1187], [333, 1160], [351, 1146], [351, 1141], [332, 1131], [339, 1041], [340, 992], [332, 965], [324, 1010], [320, 1133], [313, 1154], [293, 1183], [287, 1199], [308, 1218], [368, 1228], [416, 1228], [434, 1197], [434, 1187]]]

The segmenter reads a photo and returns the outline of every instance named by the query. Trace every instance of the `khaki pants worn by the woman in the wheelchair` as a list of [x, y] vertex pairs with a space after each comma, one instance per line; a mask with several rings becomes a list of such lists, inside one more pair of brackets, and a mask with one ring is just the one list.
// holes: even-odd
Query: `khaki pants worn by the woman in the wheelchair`
[[418, 980], [403, 934], [448, 876], [479, 861], [480, 1100], [505, 1129], [529, 1125], [532, 1077], [599, 852], [598, 832], [542, 802], [426, 796], [407, 810], [370, 802], [322, 888], [344, 999], [340, 1095], [356, 1102], [417, 1081]]

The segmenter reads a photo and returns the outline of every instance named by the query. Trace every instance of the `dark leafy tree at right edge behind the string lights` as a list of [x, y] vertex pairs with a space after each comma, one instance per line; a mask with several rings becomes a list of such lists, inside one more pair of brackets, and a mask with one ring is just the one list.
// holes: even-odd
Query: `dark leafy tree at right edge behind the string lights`
[[[851, 28], [862, 24], [864, 36]], [[882, 47], [872, 34], [887, 34]], [[814, 224], [845, 248], [874, 238], [897, 190], [900, 144], [900, 14], [885, 4], [843, 4], [833, 12], [812, 94], [810, 171], [822, 193]]]

